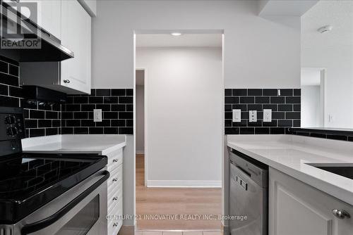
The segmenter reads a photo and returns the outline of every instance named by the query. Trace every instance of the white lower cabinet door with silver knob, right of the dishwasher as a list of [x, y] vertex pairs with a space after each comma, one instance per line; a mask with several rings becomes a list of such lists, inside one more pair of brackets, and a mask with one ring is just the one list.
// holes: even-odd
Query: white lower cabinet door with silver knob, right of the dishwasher
[[353, 215], [353, 206], [270, 168], [269, 234], [352, 235], [353, 218], [338, 218], [333, 210]]

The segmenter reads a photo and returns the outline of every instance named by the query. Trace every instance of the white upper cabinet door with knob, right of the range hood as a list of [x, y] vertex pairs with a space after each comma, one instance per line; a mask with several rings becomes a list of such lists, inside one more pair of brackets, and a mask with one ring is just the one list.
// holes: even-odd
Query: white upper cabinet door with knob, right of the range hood
[[61, 62], [61, 85], [89, 94], [91, 18], [76, 0], [61, 1], [61, 44], [74, 53], [74, 58]]

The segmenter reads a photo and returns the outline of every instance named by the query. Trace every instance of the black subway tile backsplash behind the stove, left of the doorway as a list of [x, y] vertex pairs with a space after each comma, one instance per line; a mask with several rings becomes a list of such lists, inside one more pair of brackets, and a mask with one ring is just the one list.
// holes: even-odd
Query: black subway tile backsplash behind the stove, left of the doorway
[[[30, 102], [19, 85], [19, 70], [19, 63], [0, 56], [0, 106], [24, 108], [27, 137], [133, 134], [133, 89], [92, 89], [91, 95], [68, 95], [66, 104]], [[114, 115], [93, 122], [95, 108]]]

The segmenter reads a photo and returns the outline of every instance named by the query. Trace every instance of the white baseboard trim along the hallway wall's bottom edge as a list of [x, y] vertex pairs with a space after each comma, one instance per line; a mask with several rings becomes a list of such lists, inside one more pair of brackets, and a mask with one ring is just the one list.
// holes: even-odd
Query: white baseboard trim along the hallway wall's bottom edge
[[222, 188], [222, 181], [148, 180], [149, 188]]

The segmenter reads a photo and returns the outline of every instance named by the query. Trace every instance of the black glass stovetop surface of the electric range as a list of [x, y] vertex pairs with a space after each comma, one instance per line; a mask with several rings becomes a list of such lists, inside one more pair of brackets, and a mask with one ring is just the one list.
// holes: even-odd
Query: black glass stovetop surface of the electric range
[[0, 223], [13, 224], [107, 165], [102, 155], [17, 153], [0, 157]]

